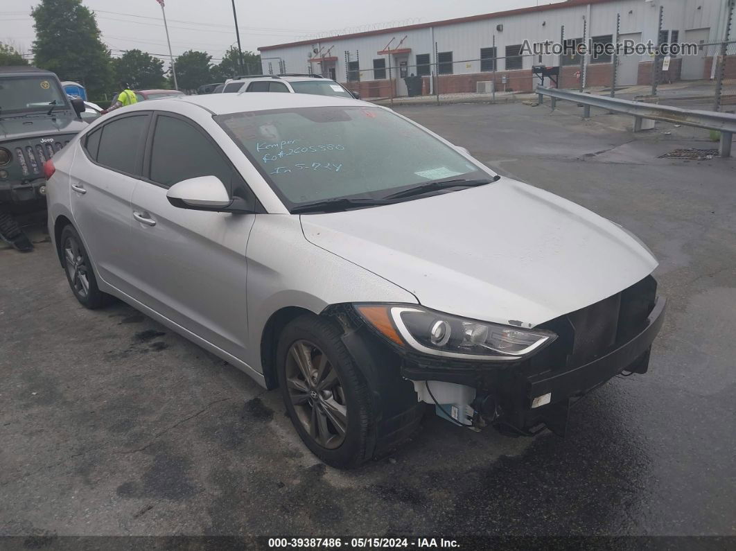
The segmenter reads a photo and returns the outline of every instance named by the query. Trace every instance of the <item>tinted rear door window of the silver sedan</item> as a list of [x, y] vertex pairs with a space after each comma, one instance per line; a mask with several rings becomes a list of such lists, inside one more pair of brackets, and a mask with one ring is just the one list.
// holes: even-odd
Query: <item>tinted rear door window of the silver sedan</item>
[[138, 175], [138, 149], [145, 137], [149, 115], [118, 118], [103, 127], [97, 162], [126, 174]]

